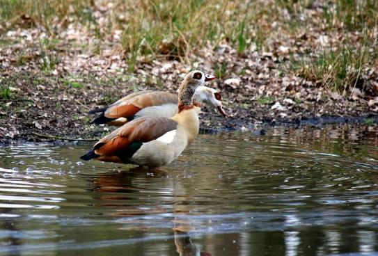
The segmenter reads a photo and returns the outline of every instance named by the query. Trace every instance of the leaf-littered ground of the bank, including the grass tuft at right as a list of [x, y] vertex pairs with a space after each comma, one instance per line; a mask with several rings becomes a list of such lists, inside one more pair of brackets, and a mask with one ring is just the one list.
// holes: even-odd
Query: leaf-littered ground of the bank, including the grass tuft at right
[[[204, 132], [306, 122], [377, 123], [378, 29], [374, 22], [372, 26], [366, 22], [366, 30], [353, 26], [348, 30], [346, 19], [338, 24], [334, 18], [332, 28], [324, 29], [326, 3], [314, 1], [299, 6], [303, 19], [312, 22], [306, 28], [296, 24], [299, 29], [283, 31], [285, 10], [289, 16], [293, 12], [283, 6], [284, 18], [260, 25], [260, 30], [269, 31], [264, 40], [256, 39], [261, 31], [253, 31], [253, 26], [251, 35], [239, 35], [235, 42], [228, 35], [216, 43], [184, 41], [191, 46], [184, 54], [166, 40], [155, 45], [152, 54], [141, 54], [145, 44], [149, 46], [149, 41], [141, 40], [134, 58], [130, 47], [125, 47], [129, 34], [119, 27], [107, 31], [101, 25], [111, 19], [113, 7], [107, 2], [88, 3], [96, 27], [74, 22], [70, 15], [53, 19], [56, 26], [48, 27], [27, 11], [12, 22], [0, 19], [2, 143], [100, 138], [112, 128], [91, 125], [90, 109], [137, 90], [175, 92], [193, 69], [216, 75], [208, 86], [221, 92], [229, 115], [223, 118], [205, 107], [200, 115]], [[265, 1], [256, 3], [267, 8]], [[263, 24], [269, 15], [259, 20]]]

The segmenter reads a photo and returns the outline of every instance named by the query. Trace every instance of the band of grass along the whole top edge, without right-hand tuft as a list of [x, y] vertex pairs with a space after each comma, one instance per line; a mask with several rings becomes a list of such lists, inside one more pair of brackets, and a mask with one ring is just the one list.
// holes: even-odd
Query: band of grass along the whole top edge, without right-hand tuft
[[[190, 63], [190, 54], [207, 41], [216, 46], [226, 40], [239, 53], [245, 52], [251, 43], [261, 49], [269, 35], [277, 31], [271, 27], [273, 21], [284, 29], [283, 33], [293, 35], [320, 24], [326, 24], [329, 30], [361, 31], [371, 30], [378, 23], [376, 0], [271, 0], [269, 4], [243, 0], [114, 0], [112, 3], [109, 12], [112, 18], [106, 28], [97, 24], [91, 0], [1, 0], [0, 24], [19, 24], [30, 19], [30, 26], [38, 24], [54, 35], [58, 29], [54, 22], [57, 17], [61, 21], [70, 19], [94, 25], [92, 31], [100, 39], [113, 29], [122, 29], [121, 45], [127, 54], [129, 70], [133, 71], [139, 56], [153, 59], [165, 55]], [[320, 22], [301, 19], [306, 10], [317, 6]], [[63, 29], [65, 26], [63, 23]], [[47, 45], [47, 49], [54, 47], [54, 42]]]

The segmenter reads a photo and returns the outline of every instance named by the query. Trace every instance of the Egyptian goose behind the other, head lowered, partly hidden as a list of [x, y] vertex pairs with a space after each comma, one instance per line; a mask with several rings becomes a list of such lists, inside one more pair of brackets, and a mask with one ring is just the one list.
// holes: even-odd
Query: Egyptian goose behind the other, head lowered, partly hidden
[[[222, 106], [222, 96], [217, 90], [207, 86], [199, 86], [194, 93], [194, 106], [199, 113], [202, 103], [209, 104], [226, 116]], [[146, 90], [132, 93], [101, 109], [89, 113], [101, 113], [91, 123], [122, 126], [130, 120], [142, 116], [153, 115], [171, 118], [178, 112], [178, 95], [163, 91]]]

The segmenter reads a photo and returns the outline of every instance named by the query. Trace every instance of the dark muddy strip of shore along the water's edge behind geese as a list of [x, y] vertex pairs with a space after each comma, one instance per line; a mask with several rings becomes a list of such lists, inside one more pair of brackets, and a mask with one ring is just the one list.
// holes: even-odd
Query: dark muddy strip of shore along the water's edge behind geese
[[[22, 143], [55, 143], [54, 141], [97, 140], [113, 131], [113, 127], [91, 124], [95, 115], [88, 111], [106, 106], [137, 90], [166, 90], [175, 93], [184, 72], [172, 75], [166, 86], [145, 82], [137, 75], [127, 80], [119, 77], [82, 76], [70, 80], [69, 74], [56, 76], [40, 72], [3, 72], [1, 83], [10, 85], [10, 97], [0, 102], [1, 145]], [[144, 82], [143, 82], [144, 81]], [[301, 101], [290, 93], [256, 97], [246, 90], [247, 80], [233, 88], [227, 79], [217, 79], [207, 86], [219, 90], [228, 118], [215, 109], [203, 106], [200, 132], [249, 131], [264, 134], [269, 127], [322, 127], [327, 124], [378, 123], [377, 109], [365, 99], [359, 101], [338, 97], [308, 97]], [[255, 84], [253, 90], [263, 85]], [[312, 88], [314, 92], [321, 88]], [[258, 94], [258, 93], [256, 93]], [[84, 141], [83, 141], [84, 142]]]

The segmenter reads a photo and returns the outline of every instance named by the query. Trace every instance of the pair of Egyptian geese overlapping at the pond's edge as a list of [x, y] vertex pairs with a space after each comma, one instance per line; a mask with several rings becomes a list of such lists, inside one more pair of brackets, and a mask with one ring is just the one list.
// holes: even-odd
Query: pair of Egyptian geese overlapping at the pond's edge
[[84, 160], [134, 163], [157, 168], [171, 163], [198, 135], [200, 104], [223, 111], [221, 94], [203, 84], [215, 77], [199, 70], [189, 72], [178, 96], [162, 91], [132, 93], [90, 113], [100, 113], [95, 124], [121, 126], [100, 139]]

